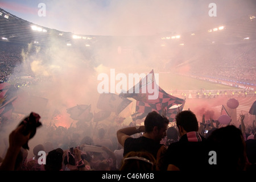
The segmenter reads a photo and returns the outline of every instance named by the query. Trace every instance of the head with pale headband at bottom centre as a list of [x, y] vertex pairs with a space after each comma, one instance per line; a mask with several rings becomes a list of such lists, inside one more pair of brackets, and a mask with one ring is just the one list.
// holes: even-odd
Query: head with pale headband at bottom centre
[[120, 171], [154, 171], [156, 160], [147, 151], [131, 151], [123, 157]]

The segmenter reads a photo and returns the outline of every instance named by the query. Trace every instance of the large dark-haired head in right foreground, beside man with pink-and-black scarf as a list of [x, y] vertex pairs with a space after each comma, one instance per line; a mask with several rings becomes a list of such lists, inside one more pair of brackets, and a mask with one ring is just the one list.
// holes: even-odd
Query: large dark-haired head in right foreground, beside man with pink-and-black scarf
[[240, 129], [228, 125], [216, 129], [207, 138], [210, 150], [217, 154], [216, 168], [243, 170], [246, 166], [245, 140]]

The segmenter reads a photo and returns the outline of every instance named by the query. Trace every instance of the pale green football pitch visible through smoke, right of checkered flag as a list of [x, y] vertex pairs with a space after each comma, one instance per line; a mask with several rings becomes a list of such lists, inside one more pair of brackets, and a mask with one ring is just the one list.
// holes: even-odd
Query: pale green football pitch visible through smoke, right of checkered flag
[[232, 90], [233, 86], [217, 84], [174, 73], [159, 73], [159, 86], [164, 90]]

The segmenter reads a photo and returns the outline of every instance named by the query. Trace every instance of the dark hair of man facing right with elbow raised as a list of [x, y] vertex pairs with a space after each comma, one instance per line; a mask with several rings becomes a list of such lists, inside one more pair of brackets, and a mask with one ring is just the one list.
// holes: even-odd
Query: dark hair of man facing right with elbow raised
[[164, 127], [165, 124], [168, 125], [169, 120], [166, 117], [163, 117], [161, 114], [156, 111], [152, 111], [147, 114], [147, 117], [144, 121], [145, 132], [153, 131], [154, 127], [157, 126], [158, 129]]

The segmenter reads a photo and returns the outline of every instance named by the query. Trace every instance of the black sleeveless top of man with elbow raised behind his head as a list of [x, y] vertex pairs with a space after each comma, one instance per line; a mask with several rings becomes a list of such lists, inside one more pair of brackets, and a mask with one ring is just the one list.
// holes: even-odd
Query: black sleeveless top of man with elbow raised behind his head
[[159, 142], [156, 142], [153, 139], [146, 137], [139, 138], [127, 138], [125, 140], [125, 146], [123, 148], [123, 156], [131, 151], [148, 151], [156, 159], [156, 154], [158, 153], [159, 148], [162, 146]]

